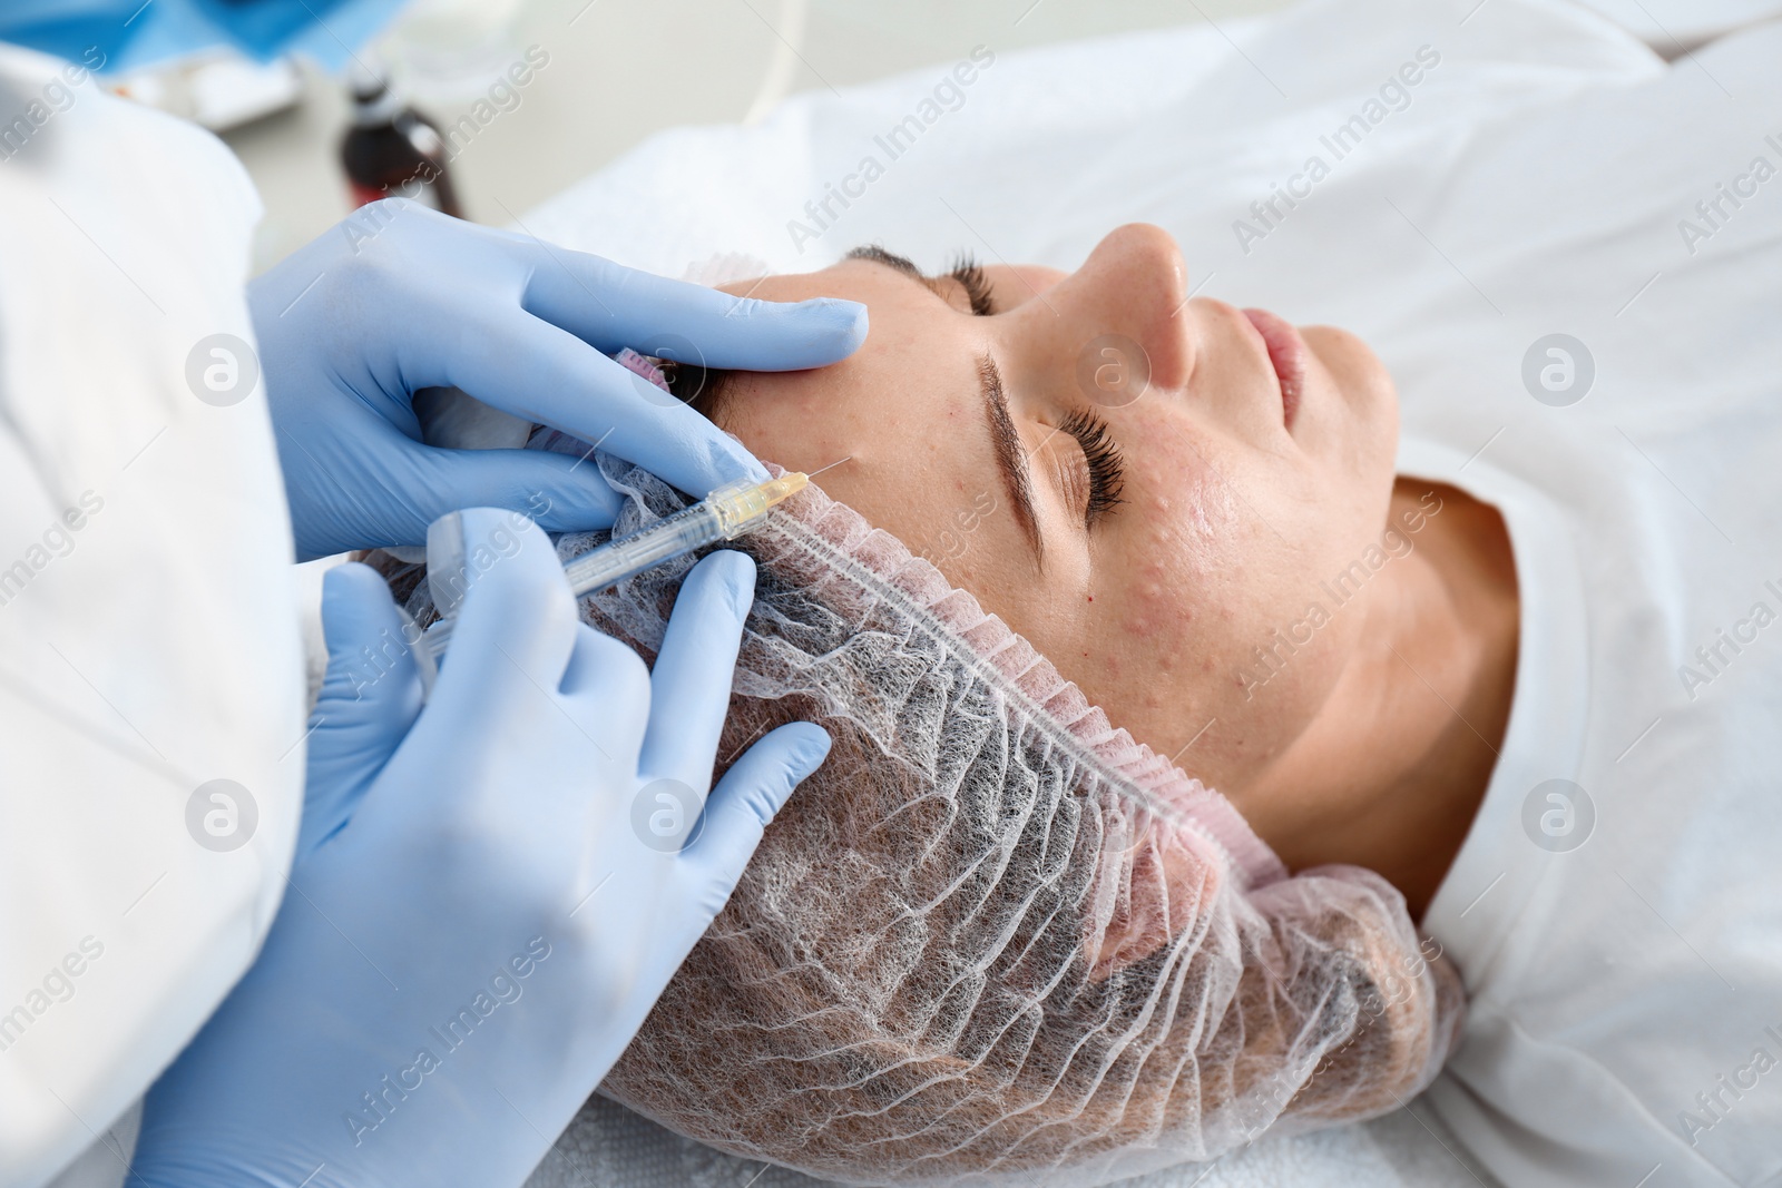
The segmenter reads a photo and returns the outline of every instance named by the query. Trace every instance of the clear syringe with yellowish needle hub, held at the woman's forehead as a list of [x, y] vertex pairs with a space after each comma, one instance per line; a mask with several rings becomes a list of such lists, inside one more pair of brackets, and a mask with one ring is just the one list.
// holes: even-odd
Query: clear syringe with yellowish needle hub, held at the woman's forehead
[[[691, 508], [665, 517], [629, 536], [608, 541], [599, 549], [590, 549], [579, 557], [570, 557], [563, 563], [563, 575], [568, 579], [568, 588], [577, 598], [595, 590], [617, 586], [627, 577], [636, 577], [643, 570], [683, 557], [695, 549], [704, 549], [720, 540], [736, 540], [761, 524], [775, 504], [802, 492], [809, 481], [809, 476], [789, 470], [766, 483], [729, 483]], [[462, 550], [462, 541], [451, 543]], [[435, 557], [431, 533], [428, 545], [428, 568], [431, 570], [435, 561], [444, 561], [451, 568], [449, 561]], [[462, 568], [462, 557], [458, 557], [458, 568]], [[458, 607], [451, 604], [440, 609], [444, 611], [440, 622], [433, 623], [421, 636], [421, 641], [426, 645], [424, 650], [435, 661], [446, 654]]]

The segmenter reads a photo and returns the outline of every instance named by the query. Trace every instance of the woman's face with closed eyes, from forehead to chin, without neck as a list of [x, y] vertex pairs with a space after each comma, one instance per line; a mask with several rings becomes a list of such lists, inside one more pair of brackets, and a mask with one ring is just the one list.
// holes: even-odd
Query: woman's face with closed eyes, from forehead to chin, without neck
[[820, 486], [1114, 725], [1240, 791], [1326, 711], [1360, 613], [1338, 609], [1265, 684], [1255, 648], [1329, 606], [1320, 582], [1381, 538], [1397, 399], [1360, 340], [1190, 299], [1176, 244], [1146, 224], [1071, 274], [923, 278], [862, 249], [727, 289], [870, 306], [841, 363], [732, 374], [720, 422], [791, 470], [848, 458]]

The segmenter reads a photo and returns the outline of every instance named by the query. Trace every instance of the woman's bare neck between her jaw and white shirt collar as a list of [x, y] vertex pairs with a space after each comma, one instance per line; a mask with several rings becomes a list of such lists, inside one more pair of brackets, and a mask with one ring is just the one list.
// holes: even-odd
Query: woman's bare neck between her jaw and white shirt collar
[[[1370, 582], [1361, 643], [1326, 711], [1233, 800], [1292, 869], [1377, 871], [1422, 915], [1479, 809], [1516, 677], [1515, 559], [1502, 517], [1399, 479], [1411, 550]], [[1385, 581], [1381, 581], [1385, 579]]]

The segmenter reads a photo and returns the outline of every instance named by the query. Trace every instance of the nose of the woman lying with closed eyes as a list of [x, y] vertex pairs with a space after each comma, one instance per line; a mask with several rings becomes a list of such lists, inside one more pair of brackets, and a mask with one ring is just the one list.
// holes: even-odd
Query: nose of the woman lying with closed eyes
[[[1076, 273], [1046, 294], [1062, 321], [1050, 337], [1060, 353], [1073, 354], [1057, 362], [1083, 376], [1133, 376], [1148, 367], [1151, 387], [1183, 387], [1194, 363], [1183, 317], [1187, 280], [1169, 232], [1149, 223], [1114, 228]], [[1142, 358], [1126, 358], [1133, 342]], [[1098, 372], [1107, 365], [1121, 370]]]

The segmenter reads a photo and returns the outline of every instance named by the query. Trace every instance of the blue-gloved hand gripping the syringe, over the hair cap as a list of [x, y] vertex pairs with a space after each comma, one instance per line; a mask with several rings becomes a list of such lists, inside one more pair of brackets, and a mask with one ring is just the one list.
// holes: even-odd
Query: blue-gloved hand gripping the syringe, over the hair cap
[[364, 659], [401, 639], [381, 581], [328, 574], [290, 887], [150, 1090], [132, 1184], [520, 1184], [827, 753], [822, 728], [781, 727], [699, 810], [747, 556], [691, 572], [652, 675], [577, 622], [544, 533], [494, 509], [462, 525], [495, 561], [424, 707], [406, 654]]

